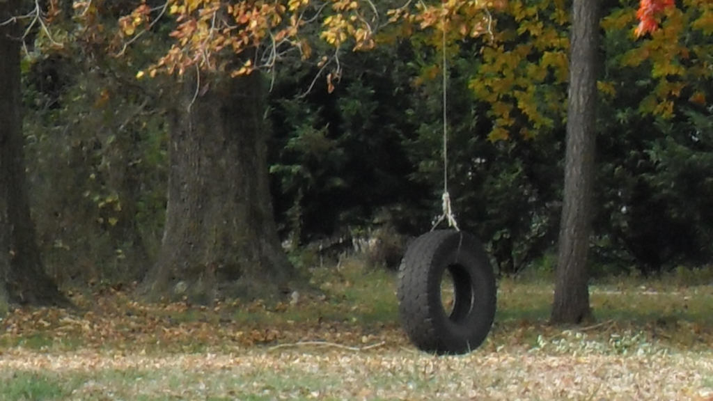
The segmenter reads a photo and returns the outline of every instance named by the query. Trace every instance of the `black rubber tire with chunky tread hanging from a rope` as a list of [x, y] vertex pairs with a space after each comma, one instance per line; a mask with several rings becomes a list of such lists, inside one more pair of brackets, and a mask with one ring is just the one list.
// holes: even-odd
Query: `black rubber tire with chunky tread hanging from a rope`
[[[450, 315], [441, 301], [446, 269], [456, 295]], [[486, 340], [495, 319], [493, 268], [480, 241], [462, 231], [435, 230], [416, 238], [401, 260], [397, 294], [404, 330], [425, 352], [471, 352]]]

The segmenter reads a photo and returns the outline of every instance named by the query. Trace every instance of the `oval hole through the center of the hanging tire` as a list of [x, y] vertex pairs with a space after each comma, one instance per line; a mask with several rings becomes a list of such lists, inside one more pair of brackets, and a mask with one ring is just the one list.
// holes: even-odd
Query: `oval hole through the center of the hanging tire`
[[473, 309], [471, 276], [461, 265], [448, 265], [441, 275], [441, 307], [453, 322], [460, 322]]

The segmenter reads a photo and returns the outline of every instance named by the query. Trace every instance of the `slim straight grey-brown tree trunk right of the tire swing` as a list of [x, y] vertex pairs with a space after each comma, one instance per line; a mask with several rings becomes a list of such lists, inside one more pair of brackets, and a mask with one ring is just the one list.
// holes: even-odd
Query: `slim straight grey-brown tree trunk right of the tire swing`
[[565, 199], [560, 223], [552, 323], [581, 323], [592, 318], [587, 257], [594, 180], [598, 15], [597, 0], [574, 0]]

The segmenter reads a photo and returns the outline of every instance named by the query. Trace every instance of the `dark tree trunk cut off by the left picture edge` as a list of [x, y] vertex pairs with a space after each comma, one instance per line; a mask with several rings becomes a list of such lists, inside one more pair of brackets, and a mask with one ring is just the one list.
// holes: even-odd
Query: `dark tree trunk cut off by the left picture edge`
[[[0, 0], [0, 21], [7, 21], [18, 10], [19, 1]], [[56, 284], [46, 274], [30, 216], [29, 194], [24, 162], [20, 87], [20, 27], [0, 26], [0, 192], [4, 210], [0, 211], [1, 253], [10, 255], [4, 275], [6, 296], [12, 303], [68, 305]], [[0, 262], [1, 263], [1, 262]]]

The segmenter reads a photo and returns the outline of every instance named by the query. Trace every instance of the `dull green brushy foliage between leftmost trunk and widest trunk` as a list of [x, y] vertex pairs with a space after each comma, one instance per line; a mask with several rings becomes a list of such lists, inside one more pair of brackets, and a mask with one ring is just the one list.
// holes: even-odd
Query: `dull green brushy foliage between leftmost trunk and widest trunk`
[[168, 127], [159, 87], [103, 62], [99, 71], [70, 57], [31, 59], [24, 76], [33, 213], [61, 281], [139, 278], [163, 229]]

